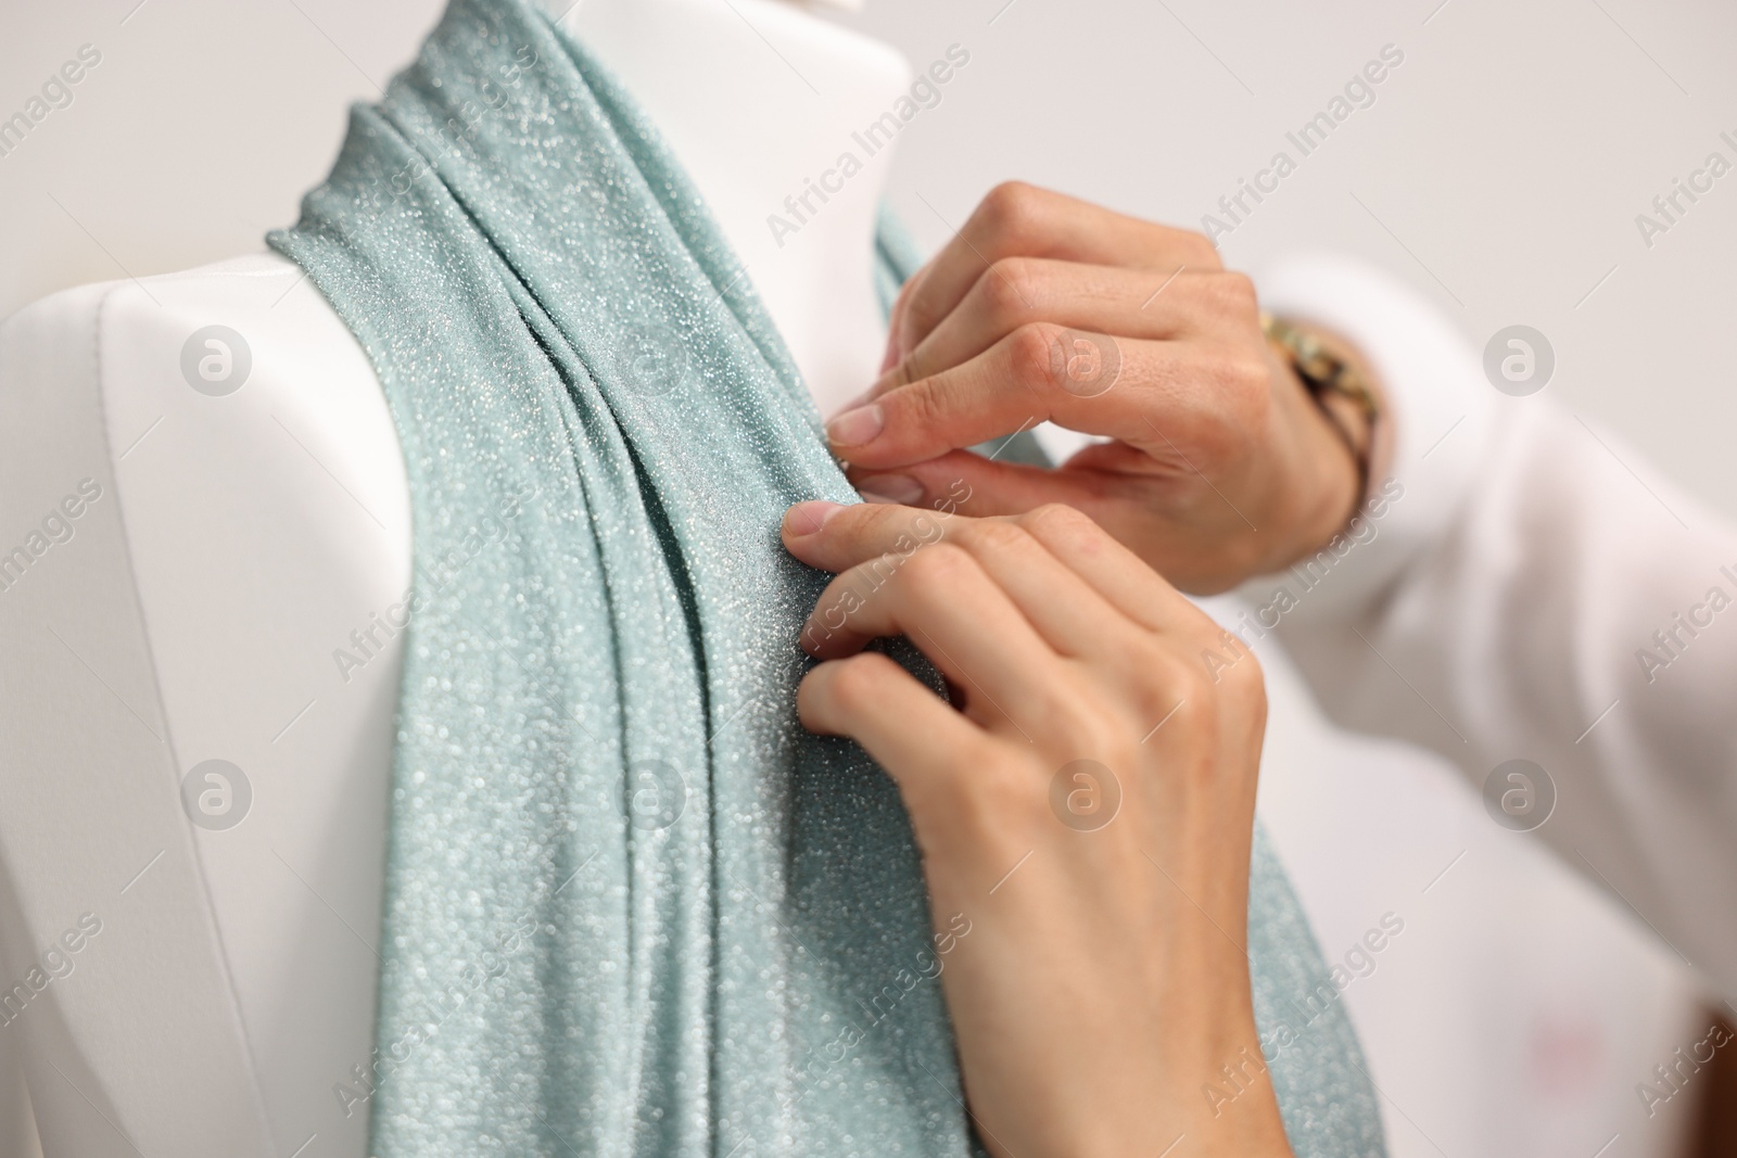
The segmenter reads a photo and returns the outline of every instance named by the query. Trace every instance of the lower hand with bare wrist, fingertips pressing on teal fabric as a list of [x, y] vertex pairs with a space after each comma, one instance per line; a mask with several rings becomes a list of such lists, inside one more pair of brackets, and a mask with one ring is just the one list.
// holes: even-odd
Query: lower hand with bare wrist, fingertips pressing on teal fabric
[[[837, 571], [802, 630], [797, 710], [898, 781], [973, 1118], [997, 1155], [1289, 1155], [1245, 929], [1259, 665], [1068, 507], [969, 519], [792, 507]], [[959, 707], [888, 656], [907, 635]], [[1216, 677], [1202, 649], [1238, 656]], [[957, 929], [950, 929], [957, 932]], [[1211, 1099], [1225, 1066], [1245, 1087]], [[1252, 1075], [1252, 1082], [1251, 1082]]]

